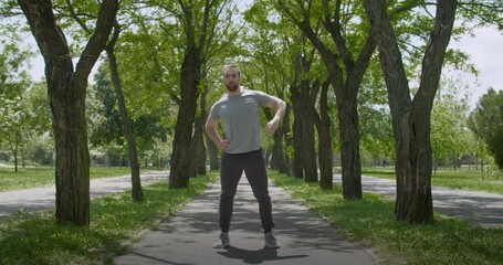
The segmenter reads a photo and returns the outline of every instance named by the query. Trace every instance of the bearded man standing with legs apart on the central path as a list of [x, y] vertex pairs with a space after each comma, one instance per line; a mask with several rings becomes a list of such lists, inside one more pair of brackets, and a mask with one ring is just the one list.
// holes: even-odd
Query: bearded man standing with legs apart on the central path
[[[268, 190], [268, 173], [262, 155], [260, 107], [275, 108], [276, 113], [265, 126], [268, 135], [274, 134], [286, 109], [286, 103], [263, 92], [240, 86], [241, 72], [237, 65], [226, 65], [222, 72], [227, 94], [213, 104], [206, 121], [210, 139], [223, 150], [220, 169], [219, 225], [221, 233], [213, 247], [230, 246], [229, 227], [233, 199], [241, 174], [244, 173], [259, 202], [260, 219], [264, 230], [265, 247], [280, 247], [272, 234], [271, 198]], [[219, 119], [223, 120], [224, 138], [217, 132]]]

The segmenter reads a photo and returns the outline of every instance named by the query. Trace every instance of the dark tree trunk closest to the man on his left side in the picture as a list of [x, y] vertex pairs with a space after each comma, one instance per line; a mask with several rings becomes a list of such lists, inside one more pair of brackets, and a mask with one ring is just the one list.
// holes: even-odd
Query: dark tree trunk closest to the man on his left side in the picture
[[172, 157], [169, 174], [169, 188], [188, 188], [189, 178], [192, 177], [191, 146], [192, 126], [196, 117], [197, 102], [199, 96], [201, 60], [200, 51], [189, 46], [181, 66], [181, 98], [178, 109], [175, 138], [172, 144]]

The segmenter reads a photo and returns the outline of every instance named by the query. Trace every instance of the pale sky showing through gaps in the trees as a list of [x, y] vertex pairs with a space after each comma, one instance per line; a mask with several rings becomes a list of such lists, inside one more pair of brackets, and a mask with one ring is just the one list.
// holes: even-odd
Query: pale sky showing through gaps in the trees
[[[27, 40], [33, 44], [33, 49], [38, 49], [34, 44], [33, 36], [28, 35]], [[503, 33], [495, 28], [478, 29], [472, 35], [464, 35], [459, 41], [451, 39], [450, 47], [460, 49], [470, 54], [470, 62], [475, 65], [480, 74], [475, 77], [473, 74], [452, 73], [444, 70], [446, 75], [454, 78], [460, 78], [463, 86], [468, 86], [470, 96], [470, 107], [474, 108], [479, 98], [486, 93], [489, 87], [495, 91], [503, 89]], [[36, 50], [38, 51], [38, 50]], [[30, 74], [34, 81], [40, 81], [44, 74], [44, 64], [40, 55], [31, 62]], [[97, 64], [94, 71], [97, 68]], [[90, 82], [93, 81], [91, 73]]]

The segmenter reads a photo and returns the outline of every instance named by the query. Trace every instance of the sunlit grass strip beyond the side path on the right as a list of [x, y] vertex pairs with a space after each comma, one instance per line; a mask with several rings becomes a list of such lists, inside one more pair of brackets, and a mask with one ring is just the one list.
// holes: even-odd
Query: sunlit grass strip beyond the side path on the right
[[[370, 177], [396, 179], [395, 169], [389, 168], [364, 168], [361, 173]], [[500, 172], [500, 174], [502, 174]], [[497, 174], [496, 174], [497, 176]], [[496, 194], [503, 194], [503, 176], [482, 179], [480, 170], [468, 170], [464, 168], [458, 170], [441, 169], [437, 170], [431, 177], [433, 187], [446, 187], [460, 190], [485, 191]]]

